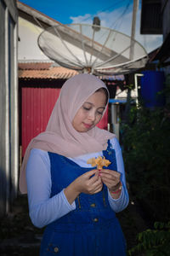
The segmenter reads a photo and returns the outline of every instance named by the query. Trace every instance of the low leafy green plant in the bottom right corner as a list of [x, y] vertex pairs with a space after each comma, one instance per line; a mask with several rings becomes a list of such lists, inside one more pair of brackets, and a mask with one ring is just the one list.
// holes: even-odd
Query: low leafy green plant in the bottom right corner
[[167, 224], [156, 222], [154, 228], [139, 233], [139, 243], [128, 250], [128, 256], [137, 255], [136, 253], [144, 253], [144, 256], [170, 255], [170, 221]]

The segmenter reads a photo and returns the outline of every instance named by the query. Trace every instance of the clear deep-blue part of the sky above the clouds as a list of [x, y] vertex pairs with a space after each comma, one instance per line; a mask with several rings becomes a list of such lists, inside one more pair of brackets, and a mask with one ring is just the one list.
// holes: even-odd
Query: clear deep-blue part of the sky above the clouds
[[97, 15], [101, 11], [111, 12], [133, 0], [20, 0], [61, 23], [71, 23], [71, 17]]

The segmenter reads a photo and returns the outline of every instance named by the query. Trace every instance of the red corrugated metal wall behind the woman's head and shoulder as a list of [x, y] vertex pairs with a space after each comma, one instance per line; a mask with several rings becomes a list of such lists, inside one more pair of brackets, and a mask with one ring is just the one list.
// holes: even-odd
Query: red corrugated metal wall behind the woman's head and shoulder
[[[31, 139], [45, 131], [59, 91], [59, 88], [22, 88], [22, 156]], [[98, 126], [107, 129], [107, 123], [108, 111]]]

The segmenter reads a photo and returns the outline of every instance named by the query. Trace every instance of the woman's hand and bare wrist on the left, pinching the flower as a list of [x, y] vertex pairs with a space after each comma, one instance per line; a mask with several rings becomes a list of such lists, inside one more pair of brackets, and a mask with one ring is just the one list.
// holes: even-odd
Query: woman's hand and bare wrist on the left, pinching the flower
[[101, 191], [103, 183], [99, 177], [99, 170], [95, 169], [77, 177], [67, 188], [65, 188], [65, 196], [67, 201], [72, 204], [77, 196], [81, 193], [94, 195]]

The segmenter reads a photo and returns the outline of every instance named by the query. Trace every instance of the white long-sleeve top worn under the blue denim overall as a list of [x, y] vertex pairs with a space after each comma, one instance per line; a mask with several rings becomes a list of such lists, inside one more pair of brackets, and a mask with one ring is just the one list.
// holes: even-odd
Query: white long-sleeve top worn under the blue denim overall
[[[116, 138], [111, 139], [111, 145], [116, 151], [117, 172], [122, 174], [122, 193], [118, 199], [113, 199], [108, 190], [108, 200], [113, 211], [121, 212], [127, 207], [129, 200], [122, 149]], [[98, 156], [103, 156], [103, 152], [83, 154], [76, 158], [70, 158], [70, 160], [81, 167], [91, 167], [87, 164], [87, 160]], [[37, 148], [31, 149], [26, 166], [26, 182], [31, 221], [38, 228], [42, 228], [76, 209], [75, 201], [72, 204], [67, 201], [64, 189], [50, 198], [52, 181], [48, 152]]]

